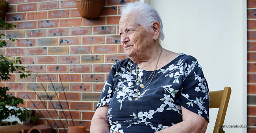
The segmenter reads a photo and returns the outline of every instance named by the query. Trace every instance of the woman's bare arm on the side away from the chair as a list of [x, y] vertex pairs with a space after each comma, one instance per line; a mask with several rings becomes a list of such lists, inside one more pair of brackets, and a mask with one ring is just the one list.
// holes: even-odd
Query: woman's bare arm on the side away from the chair
[[91, 120], [90, 133], [109, 133], [108, 105], [96, 109]]

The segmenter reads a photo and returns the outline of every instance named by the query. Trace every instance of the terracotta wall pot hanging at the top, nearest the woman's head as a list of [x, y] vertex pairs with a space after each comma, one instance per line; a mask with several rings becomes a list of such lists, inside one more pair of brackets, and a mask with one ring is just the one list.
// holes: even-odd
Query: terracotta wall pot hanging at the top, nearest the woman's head
[[75, 2], [82, 18], [98, 18], [105, 0], [76, 0]]

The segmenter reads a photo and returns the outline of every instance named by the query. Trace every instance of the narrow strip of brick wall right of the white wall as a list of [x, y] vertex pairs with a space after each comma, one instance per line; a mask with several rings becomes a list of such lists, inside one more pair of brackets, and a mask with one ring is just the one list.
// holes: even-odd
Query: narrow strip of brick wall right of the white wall
[[247, 133], [256, 132], [256, 0], [247, 0]]

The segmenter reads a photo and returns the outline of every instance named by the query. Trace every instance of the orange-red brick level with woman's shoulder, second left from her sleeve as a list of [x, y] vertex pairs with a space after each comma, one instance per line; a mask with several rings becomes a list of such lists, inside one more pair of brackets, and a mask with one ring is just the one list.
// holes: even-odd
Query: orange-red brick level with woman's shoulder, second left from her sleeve
[[91, 65], [70, 65], [70, 73], [91, 72]]

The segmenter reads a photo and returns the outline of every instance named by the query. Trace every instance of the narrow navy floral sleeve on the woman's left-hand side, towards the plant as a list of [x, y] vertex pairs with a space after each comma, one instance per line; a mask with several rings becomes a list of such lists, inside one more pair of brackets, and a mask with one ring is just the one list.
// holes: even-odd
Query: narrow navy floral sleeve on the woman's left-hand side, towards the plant
[[100, 100], [96, 106], [96, 108], [104, 106], [104, 105], [109, 105], [110, 101], [113, 97], [114, 94], [114, 90], [113, 90], [113, 86], [114, 86], [114, 77], [116, 74], [116, 63], [112, 65], [111, 70], [109, 72], [108, 78], [105, 82], [105, 85], [102, 89], [101, 95], [100, 95]]

